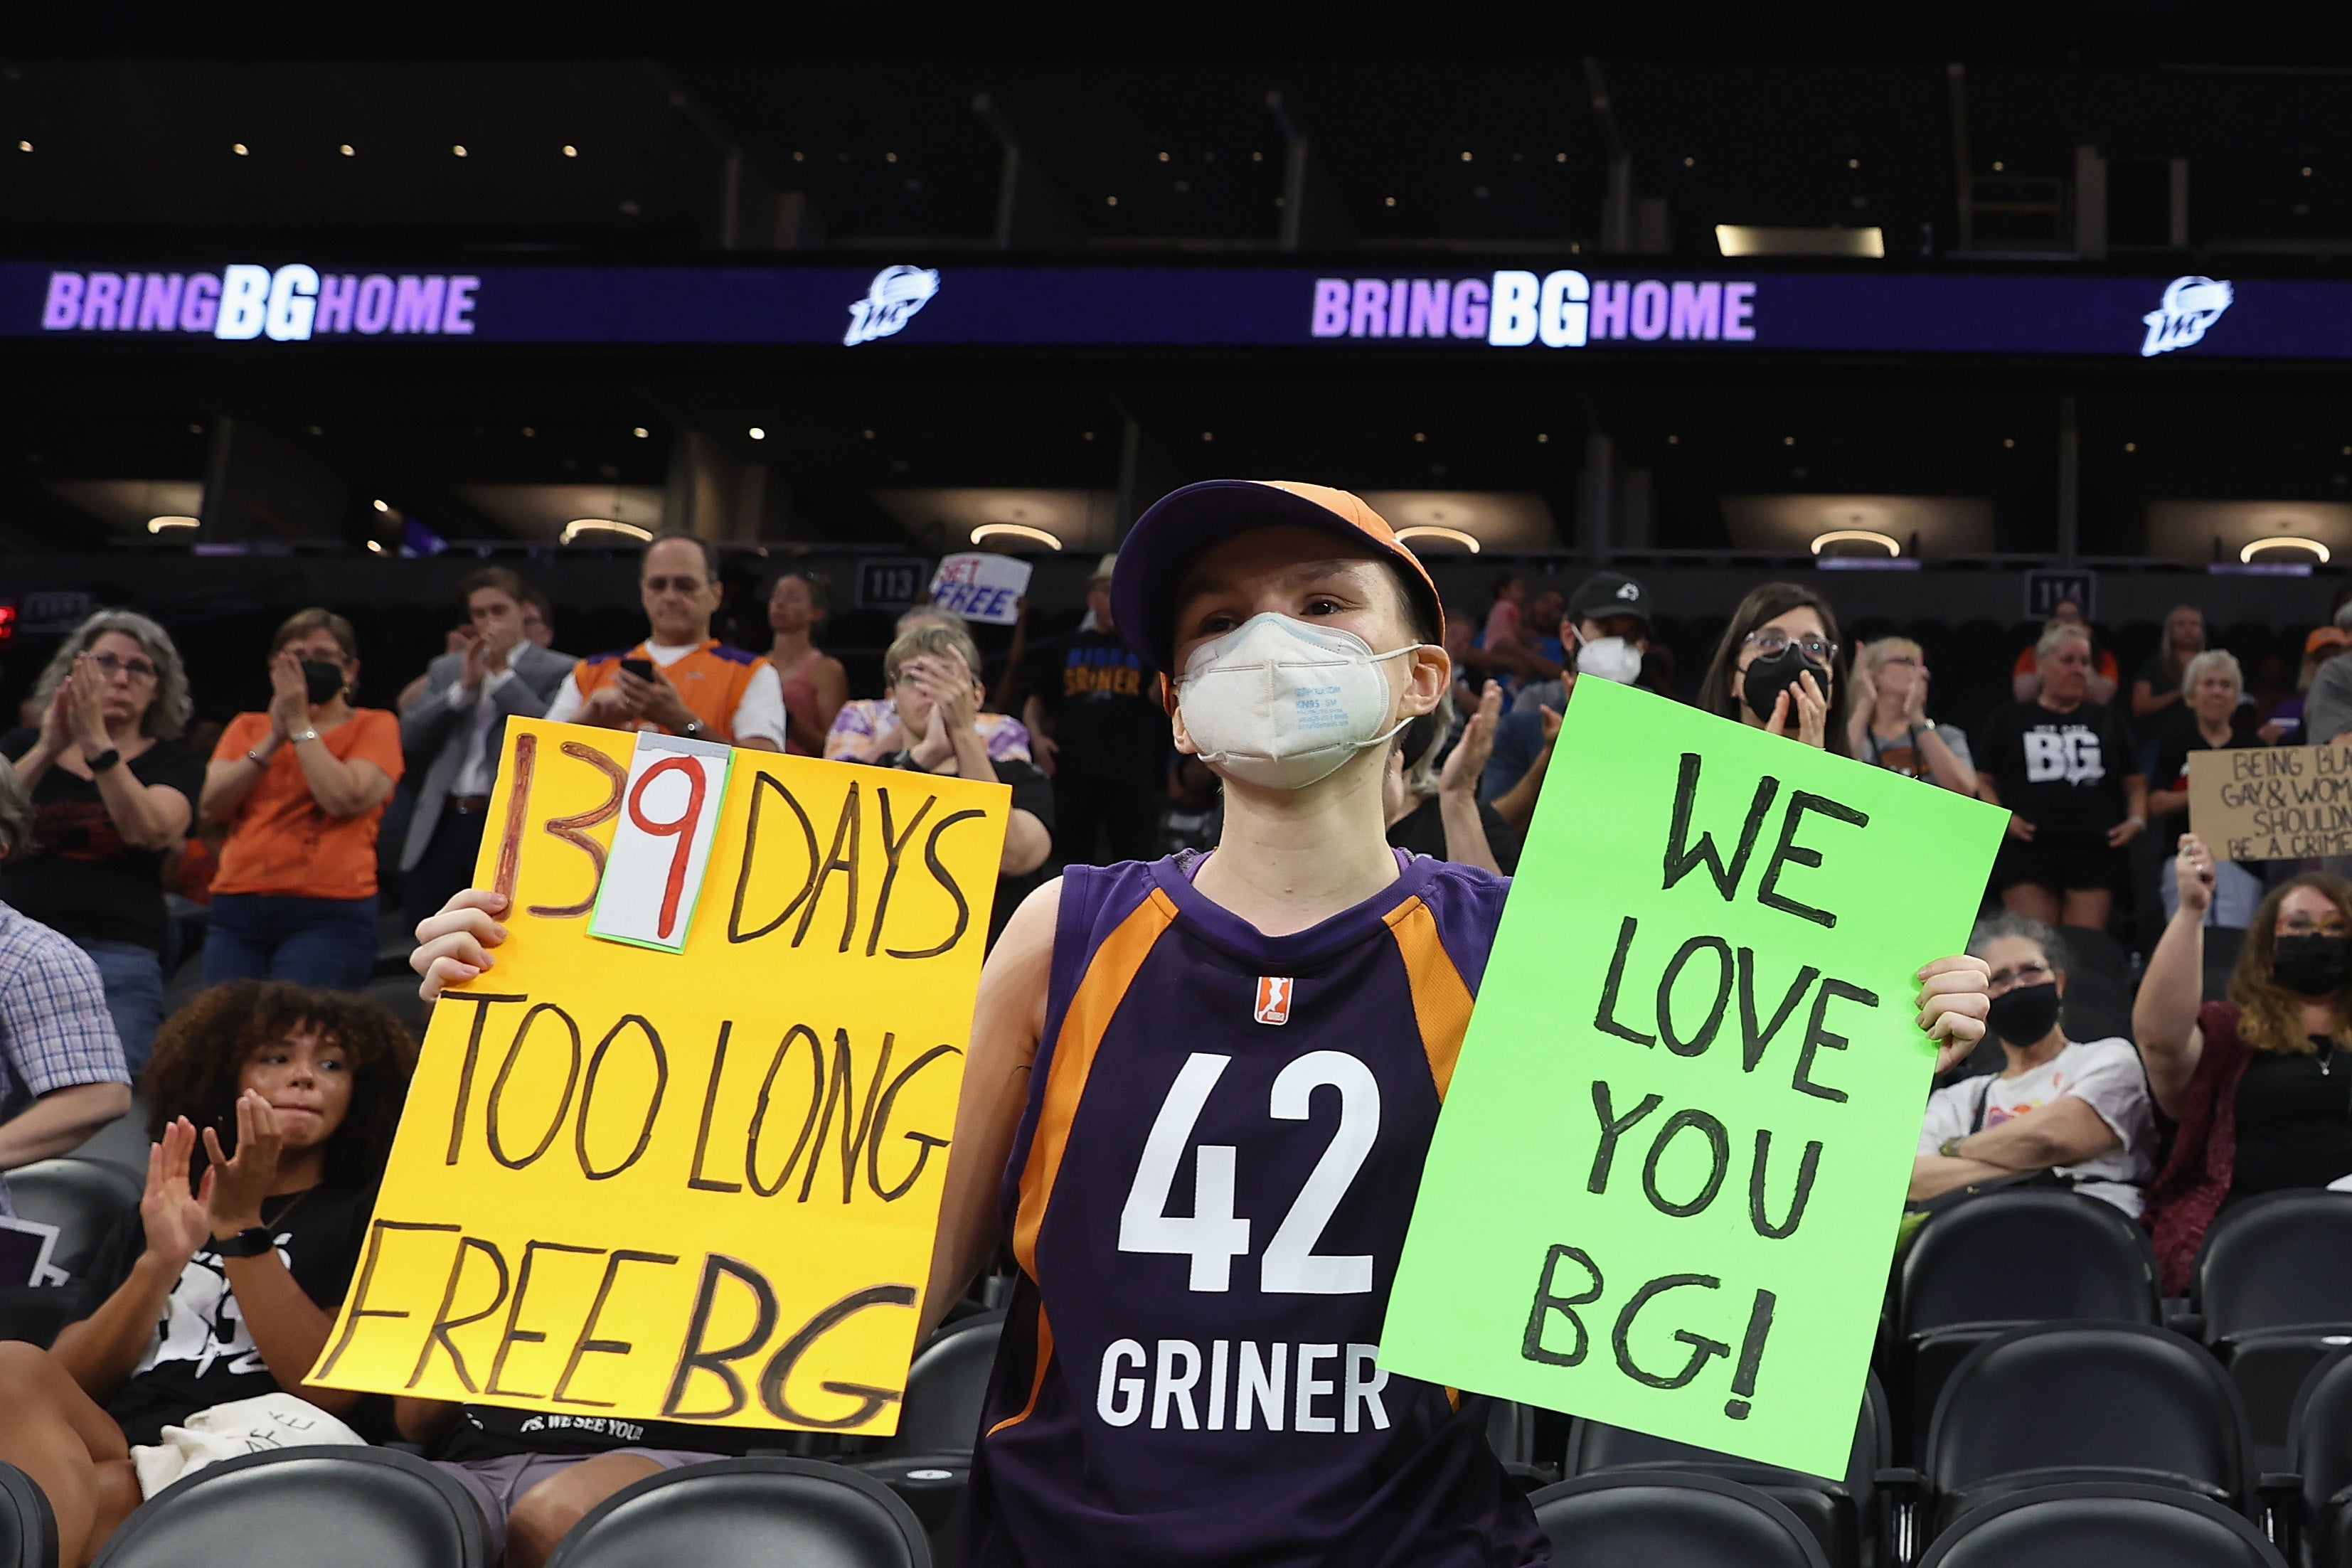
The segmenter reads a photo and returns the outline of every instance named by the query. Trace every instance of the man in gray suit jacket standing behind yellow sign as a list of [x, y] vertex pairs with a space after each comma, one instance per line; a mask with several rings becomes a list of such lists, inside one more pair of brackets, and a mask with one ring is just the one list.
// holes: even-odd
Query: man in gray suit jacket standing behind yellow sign
[[421, 778], [409, 837], [400, 846], [402, 903], [409, 922], [437, 912], [473, 886], [482, 849], [489, 785], [499, 776], [510, 717], [536, 719], [564, 684], [574, 658], [522, 635], [522, 578], [485, 567], [463, 583], [463, 649], [426, 670], [423, 691], [400, 715], [400, 750], [409, 778]]

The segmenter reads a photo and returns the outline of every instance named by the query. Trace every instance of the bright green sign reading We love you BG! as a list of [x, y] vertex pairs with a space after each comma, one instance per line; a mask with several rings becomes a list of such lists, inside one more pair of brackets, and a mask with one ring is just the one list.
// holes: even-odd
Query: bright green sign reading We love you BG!
[[1381, 1366], [1839, 1476], [2004, 813], [1576, 682]]

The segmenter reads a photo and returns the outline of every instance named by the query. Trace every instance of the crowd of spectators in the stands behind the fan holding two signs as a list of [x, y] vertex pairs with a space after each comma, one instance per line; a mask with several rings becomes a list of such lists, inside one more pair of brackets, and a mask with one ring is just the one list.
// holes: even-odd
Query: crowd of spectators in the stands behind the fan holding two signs
[[[463, 578], [461, 623], [390, 710], [360, 703], [358, 637], [329, 609], [285, 618], [266, 708], [212, 736], [193, 729], [162, 625], [108, 609], [66, 637], [28, 722], [0, 736], [0, 1173], [80, 1145], [132, 1107], [134, 1081], [153, 1147], [139, 1213], [82, 1281], [87, 1314], [52, 1349], [0, 1342], [14, 1413], [0, 1458], [49, 1493], [64, 1540], [101, 1540], [153, 1490], [129, 1450], [165, 1425], [289, 1394], [350, 1413], [353, 1396], [303, 1373], [414, 1060], [367, 987], [405, 957], [393, 933], [470, 882], [506, 719], [1007, 783], [995, 940], [1063, 863], [1216, 842], [1216, 780], [1176, 750], [1160, 677], [1112, 621], [1110, 569], [1075, 628], [1025, 642], [1023, 623], [995, 684], [957, 616], [908, 609], [873, 693], [826, 649], [826, 576], [779, 574], [755, 602], [771, 642], [731, 646], [715, 635], [717, 555], [675, 534], [642, 555], [642, 642], [555, 651], [546, 597], [489, 567]], [[2060, 602], [2018, 656], [2011, 701], [1973, 733], [1938, 710], [1919, 642], [1846, 646], [1828, 599], [1795, 583], [1738, 604], [1691, 691], [1649, 588], [1621, 571], [1534, 595], [1503, 574], [1484, 614], [1446, 616], [1444, 639], [1454, 689], [1399, 731], [1383, 776], [1388, 839], [1411, 853], [1515, 872], [1578, 679], [1639, 684], [2009, 811], [1969, 945], [1992, 976], [1990, 1037], [1976, 1074], [1924, 1110], [1917, 1211], [2067, 1187], [2143, 1215], [2180, 1291], [2223, 1206], [2352, 1182], [2352, 1114], [2333, 1088], [2352, 1046], [2352, 884], [2333, 875], [2347, 867], [2216, 860], [2187, 823], [2194, 752], [2352, 733], [2352, 609], [2310, 632], [2293, 691], [2265, 708], [2239, 661], [2206, 646], [2194, 607], [2166, 618], [2124, 691], [2114, 651]], [[379, 832], [397, 922], [379, 917]], [[2140, 835], [2152, 853], [2136, 858]], [[2145, 940], [2136, 877], [2161, 898]], [[2145, 954], [2136, 1001], [2079, 1006], [2091, 980], [2074, 950], [2114, 938]], [[207, 990], [167, 1016], [183, 957]], [[278, 1241], [249, 1248], [256, 1234]], [[492, 1406], [400, 1401], [365, 1436], [423, 1443], [506, 1561], [541, 1563], [597, 1500], [727, 1450], [708, 1429], [607, 1425], [550, 1436]]]

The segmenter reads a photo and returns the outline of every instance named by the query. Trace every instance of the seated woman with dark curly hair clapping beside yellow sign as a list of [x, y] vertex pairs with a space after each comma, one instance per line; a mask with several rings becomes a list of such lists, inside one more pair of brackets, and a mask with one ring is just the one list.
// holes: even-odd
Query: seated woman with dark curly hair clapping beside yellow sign
[[0, 1342], [0, 1460], [87, 1563], [139, 1507], [134, 1443], [198, 1410], [299, 1392], [350, 1284], [416, 1044], [367, 997], [230, 980], [174, 1013], [146, 1070], [146, 1197], [99, 1248], [89, 1316]]

